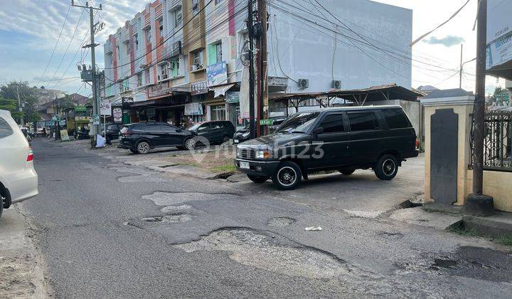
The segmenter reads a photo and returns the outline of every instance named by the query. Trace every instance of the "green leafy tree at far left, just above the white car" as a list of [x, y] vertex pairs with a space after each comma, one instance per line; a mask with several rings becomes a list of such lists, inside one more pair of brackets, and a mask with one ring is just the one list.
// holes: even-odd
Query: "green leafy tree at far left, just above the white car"
[[[11, 81], [6, 85], [2, 85], [0, 87], [0, 97], [8, 100], [14, 100], [15, 112], [17, 113], [11, 112], [11, 114], [15, 120], [19, 121], [21, 116], [23, 116], [25, 122], [36, 122], [41, 120], [41, 115], [39, 115], [37, 110], [38, 98], [36, 97], [33, 88], [28, 86], [28, 83]], [[23, 110], [22, 113], [19, 112], [20, 103]]]

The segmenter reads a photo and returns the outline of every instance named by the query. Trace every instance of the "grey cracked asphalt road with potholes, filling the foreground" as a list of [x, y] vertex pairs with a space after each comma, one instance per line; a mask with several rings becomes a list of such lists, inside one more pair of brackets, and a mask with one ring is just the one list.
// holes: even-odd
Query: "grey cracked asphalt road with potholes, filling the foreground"
[[36, 139], [33, 149], [40, 195], [23, 211], [57, 298], [512, 292], [506, 248], [388, 217], [421, 191], [420, 159], [406, 162], [388, 184], [358, 171], [277, 192], [270, 183], [127, 166], [129, 156], [100, 157], [75, 145]]

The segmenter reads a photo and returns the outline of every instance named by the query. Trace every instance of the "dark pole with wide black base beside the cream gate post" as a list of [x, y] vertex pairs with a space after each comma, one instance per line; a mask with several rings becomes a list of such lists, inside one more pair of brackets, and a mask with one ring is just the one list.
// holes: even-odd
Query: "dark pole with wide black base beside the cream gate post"
[[483, 194], [487, 0], [480, 0], [478, 6], [476, 87], [473, 111], [473, 193], [467, 197], [464, 209], [468, 214], [489, 216], [494, 211], [494, 201], [491, 196]]

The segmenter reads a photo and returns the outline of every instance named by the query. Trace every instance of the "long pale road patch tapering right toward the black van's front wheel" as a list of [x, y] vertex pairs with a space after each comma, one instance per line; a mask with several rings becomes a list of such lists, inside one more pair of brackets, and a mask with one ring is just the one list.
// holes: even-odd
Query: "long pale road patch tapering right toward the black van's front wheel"
[[206, 201], [213, 199], [234, 199], [236, 194], [211, 194], [201, 192], [154, 192], [142, 196], [142, 199], [149, 199], [157, 206], [172, 206], [187, 201]]

